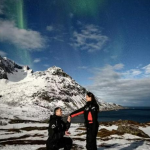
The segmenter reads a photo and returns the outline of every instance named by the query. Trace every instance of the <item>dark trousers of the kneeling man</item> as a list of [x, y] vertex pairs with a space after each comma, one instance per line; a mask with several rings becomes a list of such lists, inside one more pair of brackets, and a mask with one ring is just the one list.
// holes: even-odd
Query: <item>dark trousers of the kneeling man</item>
[[49, 139], [46, 143], [47, 150], [59, 150], [60, 148], [64, 148], [64, 150], [70, 150], [72, 147], [72, 139], [63, 137], [56, 142], [50, 142]]

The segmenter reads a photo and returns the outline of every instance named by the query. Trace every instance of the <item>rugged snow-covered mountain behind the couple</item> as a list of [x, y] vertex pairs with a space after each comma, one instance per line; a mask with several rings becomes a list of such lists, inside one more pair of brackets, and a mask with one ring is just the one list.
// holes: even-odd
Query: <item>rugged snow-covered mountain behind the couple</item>
[[[60, 106], [64, 114], [82, 107], [86, 89], [59, 67], [33, 72], [0, 56], [0, 117], [44, 120]], [[120, 105], [99, 100], [101, 110]]]

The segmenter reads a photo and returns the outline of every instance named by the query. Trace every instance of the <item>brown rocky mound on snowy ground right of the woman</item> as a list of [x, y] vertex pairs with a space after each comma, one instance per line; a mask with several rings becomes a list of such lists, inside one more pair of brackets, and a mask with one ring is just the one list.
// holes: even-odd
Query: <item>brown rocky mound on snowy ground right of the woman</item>
[[136, 135], [136, 136], [140, 136], [140, 137], [144, 137], [144, 138], [149, 138], [149, 136], [147, 134], [145, 134], [142, 130], [138, 129], [138, 127], [136, 127], [136, 126], [120, 125], [120, 126], [118, 126], [117, 131], [120, 133], [129, 133], [132, 135]]

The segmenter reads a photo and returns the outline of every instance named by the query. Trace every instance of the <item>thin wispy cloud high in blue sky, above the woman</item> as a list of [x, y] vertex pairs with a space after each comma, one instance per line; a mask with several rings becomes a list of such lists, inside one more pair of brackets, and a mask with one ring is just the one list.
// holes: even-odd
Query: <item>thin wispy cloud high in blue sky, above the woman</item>
[[95, 52], [101, 50], [106, 41], [108, 37], [101, 34], [98, 26], [91, 24], [81, 27], [80, 32], [74, 31], [70, 45], [76, 49]]

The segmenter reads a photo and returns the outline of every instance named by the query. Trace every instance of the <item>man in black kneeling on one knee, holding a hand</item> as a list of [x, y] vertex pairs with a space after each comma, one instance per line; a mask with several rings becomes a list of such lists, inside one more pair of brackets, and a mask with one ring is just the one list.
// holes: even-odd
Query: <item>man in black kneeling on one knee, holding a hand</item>
[[62, 110], [60, 107], [55, 108], [54, 115], [50, 116], [48, 135], [49, 138], [46, 142], [47, 150], [59, 150], [59, 148], [64, 148], [64, 150], [70, 150], [72, 147], [72, 139], [68, 136], [70, 133], [68, 129], [70, 128], [70, 116], [67, 119], [67, 123], [62, 120]]

